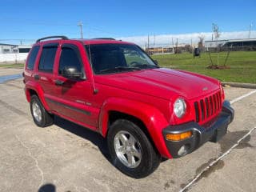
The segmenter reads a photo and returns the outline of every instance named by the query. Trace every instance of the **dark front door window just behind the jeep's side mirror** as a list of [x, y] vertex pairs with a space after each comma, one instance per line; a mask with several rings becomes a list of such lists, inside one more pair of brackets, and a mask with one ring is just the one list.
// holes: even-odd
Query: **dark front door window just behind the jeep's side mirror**
[[77, 51], [70, 47], [62, 47], [62, 54], [58, 66], [58, 74], [62, 75], [64, 68], [74, 68], [78, 73], [82, 72], [82, 63]]

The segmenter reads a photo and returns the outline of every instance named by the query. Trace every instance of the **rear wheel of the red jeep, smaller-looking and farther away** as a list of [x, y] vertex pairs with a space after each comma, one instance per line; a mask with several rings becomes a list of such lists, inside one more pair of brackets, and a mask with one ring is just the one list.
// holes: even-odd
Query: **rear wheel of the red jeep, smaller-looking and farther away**
[[53, 115], [46, 111], [37, 95], [32, 95], [30, 99], [30, 112], [37, 126], [46, 127], [54, 123]]

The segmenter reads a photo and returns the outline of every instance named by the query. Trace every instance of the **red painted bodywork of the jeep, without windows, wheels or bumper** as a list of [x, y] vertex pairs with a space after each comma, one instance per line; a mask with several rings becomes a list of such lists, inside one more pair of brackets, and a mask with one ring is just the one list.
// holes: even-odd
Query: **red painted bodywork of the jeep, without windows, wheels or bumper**
[[[38, 71], [42, 46], [56, 42], [59, 45], [53, 74]], [[86, 80], [74, 83], [58, 75], [58, 63], [64, 42], [78, 47], [86, 72]], [[166, 148], [162, 129], [170, 125], [195, 121], [194, 102], [200, 101], [201, 98], [218, 93], [216, 99], [221, 100], [221, 103], [224, 101], [224, 93], [218, 80], [190, 72], [159, 68], [118, 74], [94, 74], [84, 45], [102, 43], [128, 44], [128, 42], [114, 40], [52, 40], [35, 44], [34, 46], [41, 47], [34, 70], [28, 70], [25, 67], [24, 72], [27, 101], [30, 102], [30, 93], [34, 90], [50, 113], [98, 131], [103, 137], [106, 137], [109, 126], [110, 111], [134, 116], [144, 123], [154, 146], [166, 158], [172, 157]], [[35, 74], [40, 77], [38, 81], [34, 80]], [[56, 80], [65, 81], [65, 86], [56, 86], [54, 83]], [[207, 90], [203, 90], [204, 87], [207, 87]], [[94, 88], [98, 90], [97, 94], [94, 93]], [[177, 118], [173, 112], [176, 98], [184, 98], [186, 101], [186, 114], [181, 119]], [[87, 111], [90, 115], [49, 102], [49, 99]], [[216, 114], [198, 123], [202, 125], [209, 122], [220, 111], [221, 107]]]

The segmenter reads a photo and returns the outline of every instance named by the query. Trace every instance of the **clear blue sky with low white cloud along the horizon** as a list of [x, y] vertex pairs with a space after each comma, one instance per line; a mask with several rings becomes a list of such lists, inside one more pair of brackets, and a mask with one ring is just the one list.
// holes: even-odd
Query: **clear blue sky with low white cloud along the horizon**
[[[220, 38], [256, 38], [255, 0], [1, 0], [0, 42], [31, 44], [37, 38], [63, 34], [80, 38], [111, 37], [145, 44], [211, 39], [212, 23]], [[224, 35], [225, 34], [225, 35]]]

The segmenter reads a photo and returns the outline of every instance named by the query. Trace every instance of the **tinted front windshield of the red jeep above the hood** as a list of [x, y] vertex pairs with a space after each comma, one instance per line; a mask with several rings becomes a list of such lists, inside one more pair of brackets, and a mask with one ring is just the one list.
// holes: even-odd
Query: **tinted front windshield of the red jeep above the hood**
[[95, 74], [113, 74], [158, 66], [138, 46], [129, 44], [86, 45]]

